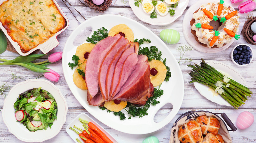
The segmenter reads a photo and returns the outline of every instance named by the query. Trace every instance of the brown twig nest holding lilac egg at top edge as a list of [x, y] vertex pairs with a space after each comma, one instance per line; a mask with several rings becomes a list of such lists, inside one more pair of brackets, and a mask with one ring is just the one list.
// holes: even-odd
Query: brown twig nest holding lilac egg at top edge
[[101, 5], [94, 4], [92, 0], [84, 0], [84, 2], [88, 7], [94, 8], [99, 12], [104, 12], [111, 5], [112, 0], [104, 0], [104, 2]]

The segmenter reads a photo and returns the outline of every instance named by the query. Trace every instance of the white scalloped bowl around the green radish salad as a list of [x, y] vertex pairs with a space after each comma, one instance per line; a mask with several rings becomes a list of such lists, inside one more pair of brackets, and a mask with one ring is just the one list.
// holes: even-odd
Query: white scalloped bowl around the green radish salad
[[[42, 89], [53, 95], [57, 103], [57, 119], [54, 120], [52, 127], [48, 127], [47, 130], [30, 132], [22, 123], [17, 122], [14, 113], [16, 110], [14, 109], [13, 104], [17, 101], [19, 94], [38, 87], [42, 87]], [[67, 102], [61, 94], [60, 89], [47, 80], [29, 79], [18, 83], [11, 88], [4, 102], [2, 116], [8, 130], [18, 139], [25, 142], [43, 142], [47, 139], [53, 138], [59, 133], [66, 121], [67, 112]]]

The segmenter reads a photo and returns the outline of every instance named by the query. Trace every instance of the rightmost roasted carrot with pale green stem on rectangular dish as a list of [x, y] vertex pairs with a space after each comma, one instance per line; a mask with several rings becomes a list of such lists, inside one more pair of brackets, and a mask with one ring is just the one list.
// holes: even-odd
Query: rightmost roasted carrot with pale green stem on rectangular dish
[[98, 135], [101, 139], [103, 139], [106, 143], [113, 143], [113, 141], [110, 140], [110, 138], [103, 133], [95, 124], [93, 124], [92, 122], [88, 122], [86, 120], [83, 120], [81, 118], [78, 119], [81, 122], [87, 123], [89, 128], [91, 128], [96, 135]]

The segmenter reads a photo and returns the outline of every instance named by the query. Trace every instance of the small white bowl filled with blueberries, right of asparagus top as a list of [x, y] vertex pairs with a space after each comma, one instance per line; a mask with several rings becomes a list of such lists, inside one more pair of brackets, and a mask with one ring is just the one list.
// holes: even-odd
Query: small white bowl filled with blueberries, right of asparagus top
[[251, 63], [253, 51], [247, 44], [238, 44], [234, 47], [231, 54], [231, 60], [238, 66], [246, 66]]

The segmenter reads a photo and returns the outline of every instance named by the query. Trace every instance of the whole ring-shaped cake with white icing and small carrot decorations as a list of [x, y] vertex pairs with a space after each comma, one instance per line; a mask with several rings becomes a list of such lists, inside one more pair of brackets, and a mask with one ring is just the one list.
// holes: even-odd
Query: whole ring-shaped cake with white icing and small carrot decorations
[[[193, 19], [190, 21], [191, 33], [205, 47], [219, 48], [230, 43], [233, 37], [236, 40], [239, 39], [240, 35], [237, 35], [240, 24], [238, 12], [223, 3], [224, 1], [220, 0], [219, 3], [203, 4], [194, 12]], [[210, 27], [210, 22], [213, 20], [220, 24], [216, 30]]]

